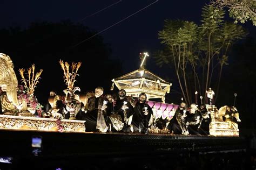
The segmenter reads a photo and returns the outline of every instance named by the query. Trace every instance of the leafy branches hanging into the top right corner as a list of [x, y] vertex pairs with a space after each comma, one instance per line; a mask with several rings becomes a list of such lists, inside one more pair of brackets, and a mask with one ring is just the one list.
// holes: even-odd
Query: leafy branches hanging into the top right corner
[[230, 17], [235, 19], [235, 23], [245, 23], [251, 20], [256, 25], [256, 2], [254, 0], [213, 0], [213, 5], [220, 8], [229, 8]]

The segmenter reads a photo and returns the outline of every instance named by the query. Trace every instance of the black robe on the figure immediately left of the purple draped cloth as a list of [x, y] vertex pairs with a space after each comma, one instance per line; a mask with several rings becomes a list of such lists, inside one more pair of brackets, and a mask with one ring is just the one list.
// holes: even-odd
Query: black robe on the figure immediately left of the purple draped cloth
[[[145, 107], [147, 107], [148, 114], [145, 115]], [[134, 132], [148, 133], [150, 117], [153, 111], [146, 103], [137, 103], [134, 107], [134, 114], [132, 118], [132, 125]]]

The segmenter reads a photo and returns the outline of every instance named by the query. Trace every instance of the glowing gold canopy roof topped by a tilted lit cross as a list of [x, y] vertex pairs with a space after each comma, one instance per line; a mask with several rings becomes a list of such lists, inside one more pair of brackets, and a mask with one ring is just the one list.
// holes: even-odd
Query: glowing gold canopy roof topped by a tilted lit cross
[[140, 59], [142, 59], [140, 68], [117, 77], [112, 82], [119, 90], [124, 89], [127, 96], [138, 97], [139, 94], [145, 93], [148, 99], [161, 98], [162, 102], [165, 103], [165, 94], [170, 93], [172, 84], [145, 68], [147, 56], [149, 56], [147, 53], [140, 53]]

